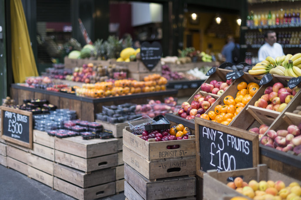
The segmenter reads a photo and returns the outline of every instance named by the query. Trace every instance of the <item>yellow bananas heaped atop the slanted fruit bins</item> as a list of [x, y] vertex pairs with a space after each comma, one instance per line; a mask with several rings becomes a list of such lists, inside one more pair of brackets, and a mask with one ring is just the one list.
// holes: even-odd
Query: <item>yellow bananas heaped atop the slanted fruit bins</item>
[[275, 60], [268, 56], [264, 61], [252, 67], [249, 73], [253, 75], [271, 73], [280, 76], [301, 76], [301, 53], [278, 56]]

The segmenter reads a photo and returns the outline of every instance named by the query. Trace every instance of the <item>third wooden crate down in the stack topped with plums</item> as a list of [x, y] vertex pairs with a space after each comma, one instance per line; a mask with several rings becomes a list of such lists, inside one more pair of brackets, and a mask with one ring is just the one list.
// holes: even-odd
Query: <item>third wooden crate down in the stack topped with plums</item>
[[[151, 182], [127, 164], [124, 167], [124, 177], [143, 199], [168, 199], [196, 194], [195, 177], [178, 176]], [[125, 195], [126, 193], [125, 187]], [[128, 196], [126, 195], [126, 197]]]

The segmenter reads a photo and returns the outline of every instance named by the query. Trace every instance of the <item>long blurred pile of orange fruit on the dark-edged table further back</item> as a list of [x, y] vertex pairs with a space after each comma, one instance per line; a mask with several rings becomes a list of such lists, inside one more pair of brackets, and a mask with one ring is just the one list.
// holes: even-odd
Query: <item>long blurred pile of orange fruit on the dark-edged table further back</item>
[[140, 92], [154, 92], [166, 90], [167, 79], [160, 74], [144, 77], [144, 81], [120, 79], [115, 82], [97, 82], [83, 84], [76, 89], [76, 95], [92, 98], [116, 97]]

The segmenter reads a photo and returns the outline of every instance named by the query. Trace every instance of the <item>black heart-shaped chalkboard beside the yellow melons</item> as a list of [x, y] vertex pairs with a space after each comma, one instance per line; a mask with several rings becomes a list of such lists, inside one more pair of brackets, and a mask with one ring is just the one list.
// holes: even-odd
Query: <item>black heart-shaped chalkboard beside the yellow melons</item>
[[148, 70], [153, 70], [162, 56], [162, 46], [159, 42], [143, 42], [140, 48], [141, 61]]

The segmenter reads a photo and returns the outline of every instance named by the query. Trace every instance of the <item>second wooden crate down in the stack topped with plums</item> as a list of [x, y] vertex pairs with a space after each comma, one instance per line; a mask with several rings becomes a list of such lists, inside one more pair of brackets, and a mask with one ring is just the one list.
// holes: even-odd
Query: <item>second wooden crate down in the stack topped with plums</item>
[[149, 180], [196, 173], [195, 156], [148, 161], [123, 145], [123, 161]]

